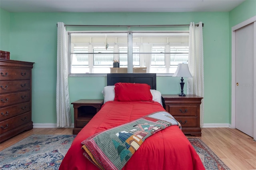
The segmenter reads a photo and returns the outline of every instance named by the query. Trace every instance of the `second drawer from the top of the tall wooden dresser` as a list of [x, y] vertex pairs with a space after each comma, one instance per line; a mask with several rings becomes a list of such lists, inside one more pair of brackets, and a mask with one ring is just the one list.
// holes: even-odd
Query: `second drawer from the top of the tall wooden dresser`
[[29, 90], [30, 80], [0, 81], [0, 93]]

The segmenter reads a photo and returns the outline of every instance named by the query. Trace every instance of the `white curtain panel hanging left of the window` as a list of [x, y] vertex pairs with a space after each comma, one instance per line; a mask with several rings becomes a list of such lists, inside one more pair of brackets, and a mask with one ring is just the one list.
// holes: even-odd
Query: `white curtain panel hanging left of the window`
[[57, 127], [71, 126], [68, 91], [68, 50], [65, 24], [58, 22], [56, 112]]

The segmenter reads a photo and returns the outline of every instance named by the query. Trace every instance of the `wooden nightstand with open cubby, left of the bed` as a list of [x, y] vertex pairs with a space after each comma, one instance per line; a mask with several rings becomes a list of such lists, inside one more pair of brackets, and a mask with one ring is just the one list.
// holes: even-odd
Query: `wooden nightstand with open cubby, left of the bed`
[[73, 134], [80, 130], [92, 119], [103, 105], [103, 99], [80, 99], [71, 103], [74, 107], [74, 129]]

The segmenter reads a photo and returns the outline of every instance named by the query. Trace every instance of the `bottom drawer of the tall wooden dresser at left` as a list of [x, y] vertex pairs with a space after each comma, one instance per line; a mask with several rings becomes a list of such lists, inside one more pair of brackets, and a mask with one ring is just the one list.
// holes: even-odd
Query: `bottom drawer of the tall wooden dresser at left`
[[16, 117], [12, 117], [5, 121], [0, 122], [0, 134], [12, 130], [20, 125], [28, 123], [31, 121], [31, 112], [23, 113]]

